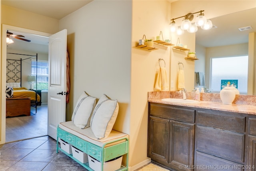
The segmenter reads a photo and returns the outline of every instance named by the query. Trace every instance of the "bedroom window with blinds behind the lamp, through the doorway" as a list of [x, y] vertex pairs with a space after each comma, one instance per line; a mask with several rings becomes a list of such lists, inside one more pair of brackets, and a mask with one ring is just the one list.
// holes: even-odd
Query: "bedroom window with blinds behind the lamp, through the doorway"
[[[36, 60], [34, 59], [31, 60], [31, 75], [36, 75]], [[37, 89], [48, 90], [48, 61], [37, 61]]]

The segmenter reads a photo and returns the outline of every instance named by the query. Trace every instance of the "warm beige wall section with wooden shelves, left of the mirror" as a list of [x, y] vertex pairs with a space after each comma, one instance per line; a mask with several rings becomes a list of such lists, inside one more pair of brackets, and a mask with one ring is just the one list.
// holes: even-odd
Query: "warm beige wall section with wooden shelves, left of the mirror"
[[[167, 1], [133, 1], [132, 4], [132, 70], [131, 70], [131, 116], [130, 116], [130, 166], [143, 165], [147, 159], [148, 92], [154, 90], [159, 69], [158, 59], [164, 59], [170, 77], [170, 49], [154, 44], [158, 50], [148, 51], [136, 47], [138, 40], [146, 35], [156, 40], [163, 33], [171, 39], [169, 31], [170, 3]], [[163, 66], [163, 63], [161, 63]], [[142, 163], [141, 163], [142, 162]]]

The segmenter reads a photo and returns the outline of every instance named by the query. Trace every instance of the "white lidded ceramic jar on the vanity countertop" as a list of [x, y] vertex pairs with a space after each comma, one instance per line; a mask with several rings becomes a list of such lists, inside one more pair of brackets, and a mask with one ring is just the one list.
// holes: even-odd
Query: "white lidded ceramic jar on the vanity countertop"
[[239, 94], [238, 89], [234, 86], [226, 86], [220, 91], [220, 99], [223, 104], [232, 104], [236, 94]]

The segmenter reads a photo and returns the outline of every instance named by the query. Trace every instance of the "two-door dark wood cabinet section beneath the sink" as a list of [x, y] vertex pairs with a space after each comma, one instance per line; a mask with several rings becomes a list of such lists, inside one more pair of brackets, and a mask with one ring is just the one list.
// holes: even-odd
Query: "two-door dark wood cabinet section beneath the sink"
[[156, 103], [149, 111], [148, 157], [168, 169], [191, 170], [195, 111]]

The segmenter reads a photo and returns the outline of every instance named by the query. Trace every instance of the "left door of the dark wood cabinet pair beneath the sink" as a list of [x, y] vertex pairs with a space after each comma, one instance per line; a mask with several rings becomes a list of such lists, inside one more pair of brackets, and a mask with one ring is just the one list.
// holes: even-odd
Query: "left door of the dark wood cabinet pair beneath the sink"
[[168, 163], [169, 120], [150, 116], [148, 130], [148, 157], [158, 163]]

